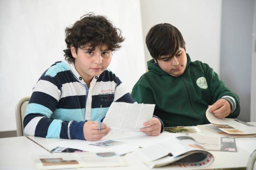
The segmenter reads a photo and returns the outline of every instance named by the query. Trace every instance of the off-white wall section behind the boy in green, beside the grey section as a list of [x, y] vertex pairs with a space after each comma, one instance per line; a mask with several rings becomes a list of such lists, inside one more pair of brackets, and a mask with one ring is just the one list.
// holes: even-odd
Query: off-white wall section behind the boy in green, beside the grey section
[[[183, 35], [191, 61], [208, 63], [219, 73], [221, 0], [141, 0], [143, 41], [150, 28], [170, 23]], [[152, 57], [144, 43], [146, 61]]]

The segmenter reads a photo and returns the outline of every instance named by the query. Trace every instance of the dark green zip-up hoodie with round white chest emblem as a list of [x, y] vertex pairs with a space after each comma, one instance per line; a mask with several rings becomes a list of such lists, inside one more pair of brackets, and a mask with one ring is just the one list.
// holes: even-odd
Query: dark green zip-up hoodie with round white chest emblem
[[238, 117], [239, 97], [207, 64], [191, 62], [187, 54], [185, 72], [179, 77], [163, 71], [153, 59], [147, 62], [147, 67], [148, 72], [134, 85], [131, 96], [138, 103], [156, 104], [154, 115], [165, 127], [210, 123], [205, 111], [220, 98], [225, 98], [231, 105], [227, 118]]

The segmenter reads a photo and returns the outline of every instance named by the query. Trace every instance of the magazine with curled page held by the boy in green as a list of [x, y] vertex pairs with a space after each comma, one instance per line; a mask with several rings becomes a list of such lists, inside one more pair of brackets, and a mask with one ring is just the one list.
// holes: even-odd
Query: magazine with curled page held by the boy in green
[[238, 119], [217, 118], [209, 112], [210, 108], [205, 113], [207, 119], [223, 132], [228, 134], [256, 134], [256, 126]]

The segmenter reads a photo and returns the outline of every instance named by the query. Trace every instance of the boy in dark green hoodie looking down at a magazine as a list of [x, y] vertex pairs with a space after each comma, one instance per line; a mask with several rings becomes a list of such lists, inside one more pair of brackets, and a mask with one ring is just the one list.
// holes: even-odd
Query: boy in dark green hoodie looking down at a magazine
[[205, 111], [218, 118], [236, 118], [239, 97], [227, 88], [207, 64], [191, 62], [180, 31], [168, 23], [157, 24], [146, 36], [152, 60], [132, 89], [138, 103], [156, 104], [154, 115], [165, 127], [210, 123]]

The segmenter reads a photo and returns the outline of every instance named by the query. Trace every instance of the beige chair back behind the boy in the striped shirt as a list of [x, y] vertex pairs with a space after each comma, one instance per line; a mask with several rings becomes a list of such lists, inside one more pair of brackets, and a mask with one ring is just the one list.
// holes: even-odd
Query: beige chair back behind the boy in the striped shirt
[[17, 136], [27, 136], [23, 131], [23, 119], [28, 106], [30, 96], [20, 99], [15, 108]]

